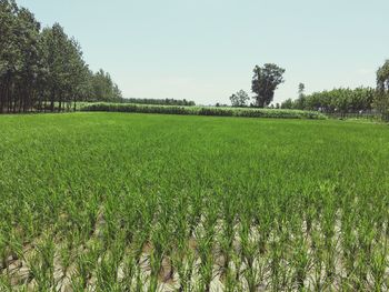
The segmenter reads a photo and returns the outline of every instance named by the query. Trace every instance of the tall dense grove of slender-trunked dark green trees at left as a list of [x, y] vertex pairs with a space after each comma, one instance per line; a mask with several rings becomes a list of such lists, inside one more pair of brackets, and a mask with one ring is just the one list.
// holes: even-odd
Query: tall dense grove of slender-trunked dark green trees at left
[[0, 0], [0, 113], [64, 111], [78, 101], [121, 101], [110, 74], [92, 72], [79, 42], [59, 23], [40, 22], [14, 0]]

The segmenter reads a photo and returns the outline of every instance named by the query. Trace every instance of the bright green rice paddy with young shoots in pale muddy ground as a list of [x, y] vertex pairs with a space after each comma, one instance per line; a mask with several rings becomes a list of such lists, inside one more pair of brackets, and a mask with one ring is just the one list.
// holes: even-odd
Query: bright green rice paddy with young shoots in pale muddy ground
[[389, 128], [0, 117], [0, 291], [385, 291]]

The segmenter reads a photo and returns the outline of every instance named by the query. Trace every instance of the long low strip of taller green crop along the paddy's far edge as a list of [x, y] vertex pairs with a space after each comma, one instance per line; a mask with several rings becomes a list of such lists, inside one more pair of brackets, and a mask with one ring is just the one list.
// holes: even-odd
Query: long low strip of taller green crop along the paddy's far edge
[[325, 114], [320, 112], [302, 111], [302, 110], [146, 105], [146, 104], [128, 104], [128, 103], [127, 104], [92, 103], [92, 104], [87, 104], [81, 107], [80, 110], [81, 111], [107, 111], [107, 112], [247, 117], [247, 118], [282, 118], [282, 119], [326, 119], [327, 118]]

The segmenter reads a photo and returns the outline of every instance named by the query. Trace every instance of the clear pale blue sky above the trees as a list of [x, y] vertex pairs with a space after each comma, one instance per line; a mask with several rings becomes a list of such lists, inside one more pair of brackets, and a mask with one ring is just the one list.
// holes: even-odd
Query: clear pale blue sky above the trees
[[19, 0], [59, 22], [90, 68], [126, 98], [229, 103], [251, 92], [252, 69], [287, 72], [276, 102], [333, 87], [375, 85], [389, 59], [388, 0]]

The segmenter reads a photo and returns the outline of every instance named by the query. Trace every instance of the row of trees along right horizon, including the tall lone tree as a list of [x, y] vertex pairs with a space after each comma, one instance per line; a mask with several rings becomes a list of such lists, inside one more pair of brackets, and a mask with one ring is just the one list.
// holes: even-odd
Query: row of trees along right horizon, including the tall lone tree
[[288, 99], [281, 104], [277, 103], [275, 105], [271, 102], [276, 89], [285, 82], [282, 77], [285, 71], [285, 69], [273, 63], [266, 63], [263, 67], [256, 66], [251, 80], [251, 91], [255, 93], [253, 102], [249, 103], [249, 94], [240, 90], [230, 97], [232, 107], [313, 110], [327, 113], [361, 111], [389, 113], [389, 60], [377, 71], [376, 88], [339, 88], [306, 94], [306, 87], [300, 83], [297, 99]]

